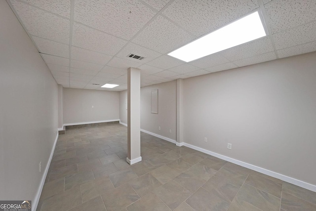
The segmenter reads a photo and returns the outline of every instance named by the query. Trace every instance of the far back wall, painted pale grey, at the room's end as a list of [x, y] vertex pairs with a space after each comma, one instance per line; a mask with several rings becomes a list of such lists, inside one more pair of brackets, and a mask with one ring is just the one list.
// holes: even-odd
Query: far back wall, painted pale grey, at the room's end
[[76, 88], [63, 89], [64, 124], [118, 119], [119, 92]]

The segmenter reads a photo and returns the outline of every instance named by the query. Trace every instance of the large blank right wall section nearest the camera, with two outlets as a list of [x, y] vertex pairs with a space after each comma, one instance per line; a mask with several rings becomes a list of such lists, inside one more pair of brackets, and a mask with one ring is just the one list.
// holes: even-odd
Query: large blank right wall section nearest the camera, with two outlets
[[185, 79], [184, 142], [316, 185], [315, 67], [313, 52]]

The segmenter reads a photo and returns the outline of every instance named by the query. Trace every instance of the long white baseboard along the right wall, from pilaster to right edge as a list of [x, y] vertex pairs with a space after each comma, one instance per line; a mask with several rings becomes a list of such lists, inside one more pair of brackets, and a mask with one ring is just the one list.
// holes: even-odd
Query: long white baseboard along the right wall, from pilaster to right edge
[[245, 167], [247, 169], [255, 170], [255, 171], [258, 171], [260, 173], [263, 173], [263, 174], [275, 177], [277, 179], [283, 180], [285, 182], [291, 183], [293, 185], [297, 185], [297, 186], [300, 186], [302, 188], [305, 188], [305, 189], [308, 189], [308, 190], [316, 192], [316, 185], [312, 185], [310, 183], [307, 183], [307, 182], [304, 182], [304, 181], [301, 181], [301, 180], [298, 180], [298, 179], [294, 179], [292, 177], [285, 176], [283, 174], [276, 173], [276, 172], [268, 170], [268, 169], [263, 169], [261, 167], [257, 167], [257, 166], [254, 166], [254, 165], [251, 165], [251, 164], [248, 164], [248, 163], [245, 163], [245, 162], [242, 162], [242, 161], [239, 161], [239, 160], [236, 160], [236, 159], [224, 156], [224, 155], [220, 155], [220, 154], [217, 154], [215, 152], [208, 151], [208, 150], [199, 148], [199, 147], [191, 145], [191, 144], [184, 143], [184, 146], [189, 147], [191, 149], [195, 149], [195, 150], [200, 151], [200, 152], [203, 152], [205, 154], [208, 154], [208, 155], [220, 158], [222, 160], [231, 162], [233, 164], [237, 164], [237, 165]]

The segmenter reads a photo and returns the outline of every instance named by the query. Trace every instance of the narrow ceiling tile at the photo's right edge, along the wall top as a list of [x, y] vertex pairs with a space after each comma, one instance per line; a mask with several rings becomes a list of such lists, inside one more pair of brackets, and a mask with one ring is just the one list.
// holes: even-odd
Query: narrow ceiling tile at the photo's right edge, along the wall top
[[279, 58], [316, 51], [316, 41], [277, 50]]

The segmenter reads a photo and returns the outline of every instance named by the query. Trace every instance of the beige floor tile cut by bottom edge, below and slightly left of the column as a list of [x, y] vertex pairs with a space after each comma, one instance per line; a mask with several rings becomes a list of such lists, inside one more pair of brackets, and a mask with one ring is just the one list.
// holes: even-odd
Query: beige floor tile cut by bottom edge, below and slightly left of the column
[[107, 211], [121, 211], [140, 199], [132, 186], [124, 184], [118, 188], [105, 191], [102, 198]]

